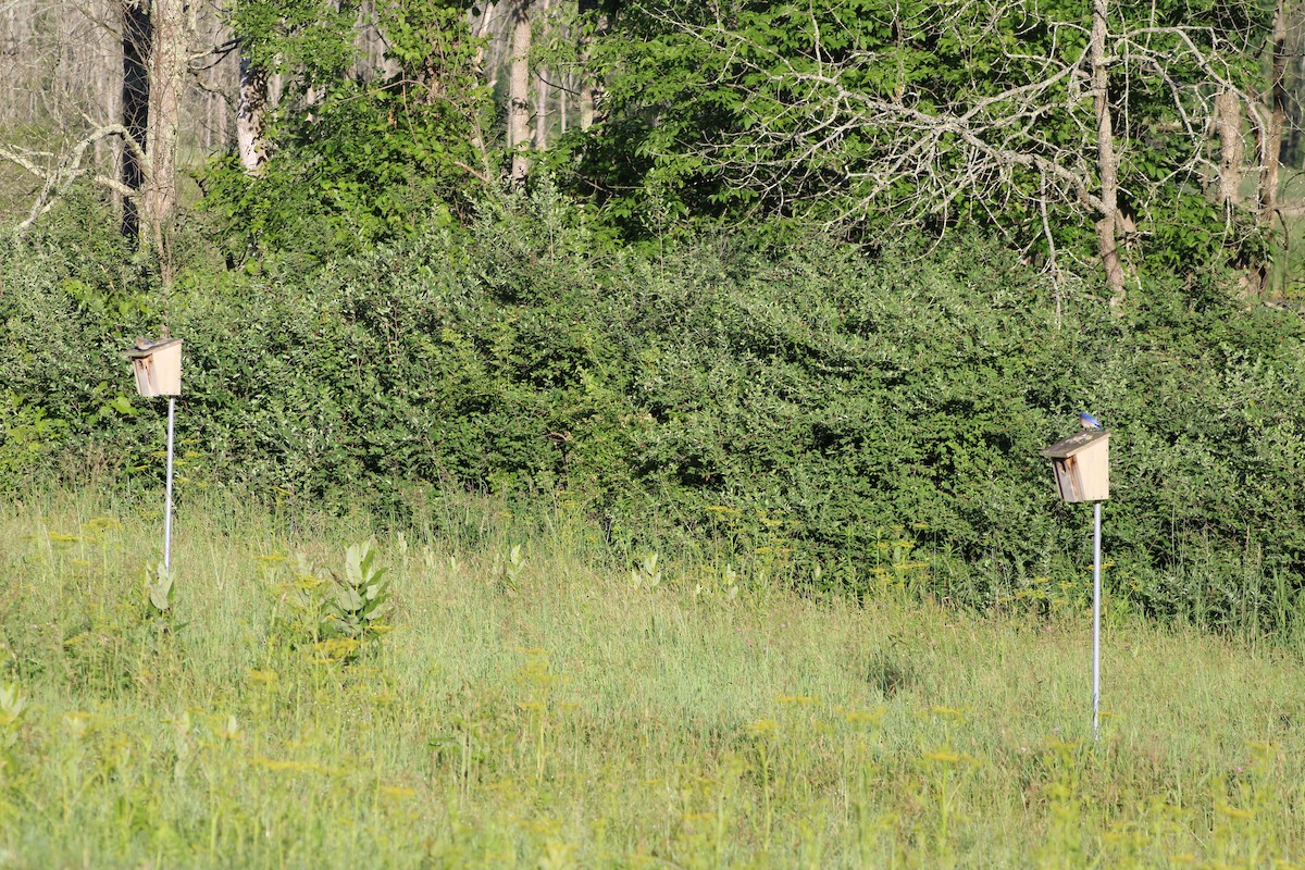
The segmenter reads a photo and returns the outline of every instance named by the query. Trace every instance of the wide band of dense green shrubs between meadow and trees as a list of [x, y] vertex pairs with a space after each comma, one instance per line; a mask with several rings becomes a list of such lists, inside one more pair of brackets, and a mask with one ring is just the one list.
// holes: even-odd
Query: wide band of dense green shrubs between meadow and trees
[[[675, 533], [855, 590], [910, 541], [921, 588], [1000, 604], [1048, 577], [1083, 588], [1090, 513], [1037, 450], [1091, 410], [1114, 433], [1121, 600], [1229, 625], [1295, 607], [1295, 314], [1160, 286], [1122, 317], [1083, 288], [1057, 305], [979, 239], [642, 254], [585, 222], [545, 190], [312, 274], [188, 275], [168, 299], [183, 472], [411, 517], [450, 488], [565, 493], [617, 544]], [[154, 307], [64, 277], [57, 250], [4, 269], [5, 485], [157, 475], [162, 403], [125, 398], [120, 357]]]

